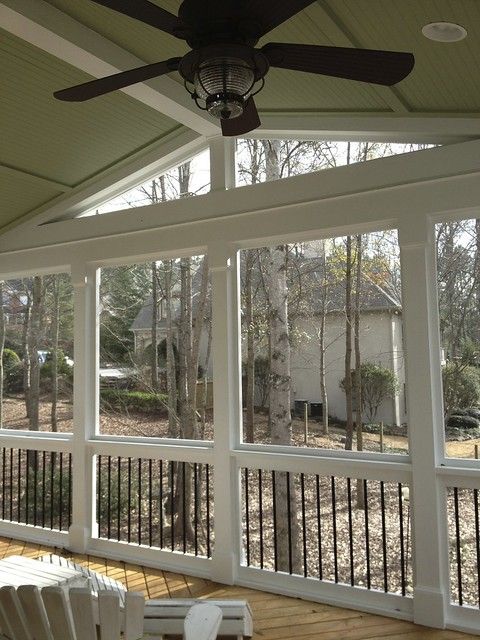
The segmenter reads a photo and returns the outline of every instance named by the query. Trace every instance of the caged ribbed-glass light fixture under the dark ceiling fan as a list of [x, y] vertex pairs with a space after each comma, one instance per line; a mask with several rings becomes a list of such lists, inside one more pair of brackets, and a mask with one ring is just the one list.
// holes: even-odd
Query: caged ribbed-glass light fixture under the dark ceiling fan
[[197, 104], [199, 99], [205, 102], [202, 108], [212, 116], [228, 120], [242, 115], [255, 82], [255, 70], [245, 60], [211, 58], [202, 62], [196, 70], [192, 95]]

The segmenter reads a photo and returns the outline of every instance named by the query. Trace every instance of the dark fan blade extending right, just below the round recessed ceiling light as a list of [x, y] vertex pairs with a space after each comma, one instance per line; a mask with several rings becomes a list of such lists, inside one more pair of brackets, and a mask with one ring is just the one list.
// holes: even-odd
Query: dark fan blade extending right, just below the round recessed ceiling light
[[411, 53], [312, 44], [270, 42], [262, 53], [272, 67], [387, 86], [403, 80], [415, 64]]

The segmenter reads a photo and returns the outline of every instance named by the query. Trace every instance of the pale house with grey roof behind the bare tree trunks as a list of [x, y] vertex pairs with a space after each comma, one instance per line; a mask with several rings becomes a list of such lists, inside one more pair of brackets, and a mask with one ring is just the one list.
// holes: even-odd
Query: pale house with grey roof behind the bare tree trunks
[[[294, 330], [291, 332], [291, 377], [292, 408], [295, 400], [306, 400], [309, 403], [320, 403], [320, 370], [319, 370], [319, 333], [320, 310], [318, 289], [319, 271], [316, 261], [297, 258], [297, 269], [307, 271], [306, 289], [310, 291], [308, 314], [290, 314]], [[195, 286], [200, 279], [193, 281], [193, 304], [195, 311]], [[260, 294], [261, 295], [261, 294]], [[261, 296], [260, 305], [265, 304]], [[159, 344], [159, 362], [164, 367], [165, 356], [162, 356], [162, 342], [167, 335], [165, 300], [158, 301], [157, 337]], [[174, 318], [178, 318], [178, 297], [172, 300]], [[293, 307], [293, 305], [291, 305]], [[329, 287], [326, 304], [325, 344], [326, 350], [326, 382], [328, 392], [329, 414], [333, 418], [345, 420], [345, 393], [340, 383], [345, 376], [345, 286], [343, 283]], [[379, 407], [377, 420], [386, 424], [399, 426], [406, 422], [406, 404], [404, 397], [405, 369], [402, 335], [402, 310], [399, 300], [395, 300], [382, 287], [367, 276], [363, 276], [360, 295], [360, 353], [362, 362], [373, 362], [393, 371], [398, 381], [398, 392], [388, 398]], [[175, 325], [175, 320], [174, 320]], [[152, 343], [152, 299], [148, 298], [135, 317], [131, 331], [134, 335], [134, 352], [138, 359], [148, 365], [148, 358], [142, 355]], [[174, 329], [175, 333], [176, 330]], [[200, 340], [199, 364], [201, 373], [209, 380], [213, 377], [213, 365], [208, 358], [209, 327], [203, 329]], [[263, 346], [262, 346], [263, 345]], [[256, 356], [266, 356], [268, 350], [265, 339], [257, 345]], [[245, 357], [245, 356], [244, 356]], [[353, 368], [353, 360], [352, 360]], [[262, 402], [261, 384], [257, 383], [256, 404]], [[321, 414], [321, 412], [320, 412]]]

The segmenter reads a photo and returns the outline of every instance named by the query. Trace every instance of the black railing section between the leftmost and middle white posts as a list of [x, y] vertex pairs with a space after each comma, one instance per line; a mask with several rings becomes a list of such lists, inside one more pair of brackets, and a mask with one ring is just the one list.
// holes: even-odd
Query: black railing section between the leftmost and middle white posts
[[99, 455], [97, 519], [101, 538], [209, 558], [211, 467]]

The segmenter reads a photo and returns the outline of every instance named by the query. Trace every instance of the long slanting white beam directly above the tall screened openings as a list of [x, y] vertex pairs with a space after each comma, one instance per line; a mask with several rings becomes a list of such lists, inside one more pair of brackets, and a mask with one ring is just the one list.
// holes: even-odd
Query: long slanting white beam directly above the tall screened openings
[[[434, 215], [447, 209], [478, 206], [479, 157], [480, 140], [475, 140], [241, 187], [235, 192], [216, 191], [108, 213], [94, 219], [55, 222], [12, 233], [6, 240], [0, 237], [0, 252], [95, 241], [99, 248], [104, 247], [96, 258], [101, 260], [114, 239], [125, 244], [126, 238], [138, 237], [140, 244], [144, 243], [146, 247], [150, 235], [153, 237], [159, 232], [160, 236], [169, 237], [172, 233], [185, 238], [191, 246], [199, 246], [204, 244], [202, 229], [205, 226], [208, 227], [208, 242], [224, 239], [233, 226], [237, 228], [239, 240], [261, 238], [263, 234], [273, 238], [275, 234], [287, 233], [279, 225], [283, 218], [288, 223], [285, 227], [288, 233], [300, 232], [299, 221], [303, 215], [311, 219], [311, 229], [346, 228], [349, 221], [353, 224], [357, 215], [349, 203], [359, 194], [372, 197], [382, 194], [381, 205], [371, 212], [372, 221], [378, 218], [380, 210], [385, 220], [404, 215], [405, 211], [415, 218], [417, 206]], [[475, 185], [473, 189], [472, 184]], [[418, 188], [421, 205], [404, 196], [405, 190], [412, 188]], [[336, 203], [333, 208], [332, 203]], [[323, 217], [320, 207], [329, 211], [327, 217]], [[368, 202], [365, 211], [369, 211]], [[362, 216], [364, 222], [370, 219], [365, 217], [365, 212]], [[349, 232], [357, 233], [352, 230], [354, 228]], [[108, 242], [105, 242], [106, 238], [109, 238]], [[178, 239], [175, 242], [181, 244]], [[161, 250], [158, 245], [158, 251]], [[129, 253], [130, 246], [125, 255]]]

